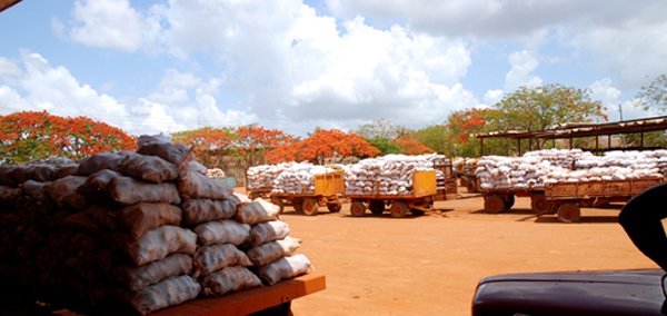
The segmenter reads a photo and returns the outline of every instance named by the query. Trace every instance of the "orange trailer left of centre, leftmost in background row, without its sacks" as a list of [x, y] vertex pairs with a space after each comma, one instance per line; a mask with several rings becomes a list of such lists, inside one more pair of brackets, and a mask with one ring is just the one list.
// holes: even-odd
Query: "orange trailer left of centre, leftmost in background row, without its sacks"
[[309, 216], [318, 214], [320, 206], [327, 207], [331, 213], [341, 209], [341, 197], [345, 194], [345, 182], [340, 174], [315, 175], [315, 190], [308, 191], [303, 188], [301, 192], [273, 192], [272, 188], [249, 189], [251, 199], [268, 198], [272, 204], [280, 207], [291, 206], [297, 213]]

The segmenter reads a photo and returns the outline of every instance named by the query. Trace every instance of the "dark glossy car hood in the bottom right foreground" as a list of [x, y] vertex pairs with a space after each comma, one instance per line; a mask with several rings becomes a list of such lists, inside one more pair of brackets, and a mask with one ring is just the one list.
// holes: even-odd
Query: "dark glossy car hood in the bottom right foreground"
[[641, 269], [486, 277], [472, 315], [663, 315], [663, 275]]

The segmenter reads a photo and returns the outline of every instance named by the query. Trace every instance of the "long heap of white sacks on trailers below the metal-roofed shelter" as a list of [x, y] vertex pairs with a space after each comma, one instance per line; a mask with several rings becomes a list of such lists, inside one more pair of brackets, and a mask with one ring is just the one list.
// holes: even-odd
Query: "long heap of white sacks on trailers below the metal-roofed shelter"
[[663, 178], [667, 150], [608, 151], [545, 149], [522, 157], [484, 156], [475, 175], [482, 189], [540, 188], [548, 182]]

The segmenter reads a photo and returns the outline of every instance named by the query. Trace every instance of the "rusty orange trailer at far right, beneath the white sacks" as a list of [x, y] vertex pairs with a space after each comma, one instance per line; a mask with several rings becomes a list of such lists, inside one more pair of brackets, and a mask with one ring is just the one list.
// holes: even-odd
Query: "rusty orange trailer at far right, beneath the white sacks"
[[627, 201], [645, 189], [661, 182], [663, 178], [645, 178], [546, 184], [545, 203], [548, 209], [546, 214], [556, 214], [563, 223], [577, 223], [581, 218], [581, 207]]

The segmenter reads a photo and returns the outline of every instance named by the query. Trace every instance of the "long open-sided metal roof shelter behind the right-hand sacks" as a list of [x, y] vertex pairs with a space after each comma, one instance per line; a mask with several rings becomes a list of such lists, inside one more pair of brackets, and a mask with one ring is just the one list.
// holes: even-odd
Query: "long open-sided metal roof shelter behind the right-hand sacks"
[[611, 136], [623, 134], [640, 134], [640, 148], [644, 148], [644, 132], [666, 130], [667, 116], [624, 120], [616, 122], [586, 122], [586, 124], [564, 124], [557, 125], [547, 130], [536, 131], [492, 131], [476, 135], [480, 142], [480, 155], [484, 155], [485, 138], [508, 138], [516, 139], [518, 144], [519, 155], [521, 155], [521, 140], [528, 139], [528, 150], [532, 149], [534, 139], [569, 139], [570, 149], [573, 148], [573, 139], [579, 137], [596, 137], [595, 150], [599, 151], [598, 136], [607, 136], [607, 148], [611, 146]]

